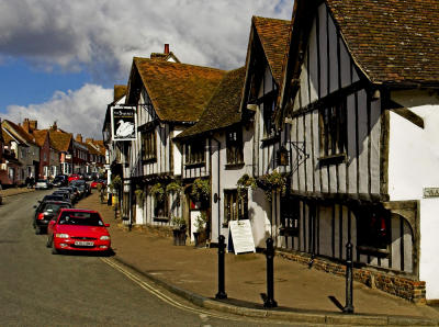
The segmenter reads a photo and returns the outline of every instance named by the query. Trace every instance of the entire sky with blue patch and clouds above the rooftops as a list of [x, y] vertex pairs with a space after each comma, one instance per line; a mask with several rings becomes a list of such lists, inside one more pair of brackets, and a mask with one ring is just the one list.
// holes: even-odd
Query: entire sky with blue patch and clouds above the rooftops
[[291, 20], [293, 0], [0, 0], [0, 117], [102, 138], [134, 56], [244, 66], [251, 16]]

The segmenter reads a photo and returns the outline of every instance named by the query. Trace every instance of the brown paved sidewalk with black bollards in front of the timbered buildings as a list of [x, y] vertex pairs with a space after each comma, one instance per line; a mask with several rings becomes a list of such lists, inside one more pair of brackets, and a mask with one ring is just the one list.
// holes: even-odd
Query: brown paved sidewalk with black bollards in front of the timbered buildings
[[[100, 204], [94, 192], [77, 207], [93, 208], [110, 223], [114, 259], [133, 267], [196, 304], [251, 316], [315, 324], [352, 325], [439, 325], [439, 312], [416, 305], [354, 282], [354, 315], [344, 315], [335, 303], [345, 305], [345, 279], [308, 269], [277, 257], [274, 300], [279, 307], [266, 311], [260, 294], [267, 293], [266, 258], [260, 253], [226, 255], [225, 290], [228, 298], [215, 301], [217, 292], [217, 249], [173, 246], [165, 238], [144, 230], [126, 232], [114, 219], [112, 206]], [[333, 300], [331, 300], [333, 298]]]

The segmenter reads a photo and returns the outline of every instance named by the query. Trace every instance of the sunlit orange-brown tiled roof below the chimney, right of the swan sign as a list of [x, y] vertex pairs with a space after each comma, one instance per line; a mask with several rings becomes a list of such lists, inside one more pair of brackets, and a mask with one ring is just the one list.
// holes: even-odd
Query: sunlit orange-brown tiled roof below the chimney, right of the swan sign
[[134, 58], [134, 66], [161, 121], [196, 122], [226, 71]]

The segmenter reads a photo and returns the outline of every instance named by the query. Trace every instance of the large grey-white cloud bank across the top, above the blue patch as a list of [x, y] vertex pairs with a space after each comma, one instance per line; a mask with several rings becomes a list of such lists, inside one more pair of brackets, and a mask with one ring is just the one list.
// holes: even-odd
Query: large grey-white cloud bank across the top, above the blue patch
[[0, 0], [0, 54], [38, 67], [87, 68], [95, 81], [126, 79], [132, 57], [244, 64], [251, 15], [291, 19], [293, 0]]

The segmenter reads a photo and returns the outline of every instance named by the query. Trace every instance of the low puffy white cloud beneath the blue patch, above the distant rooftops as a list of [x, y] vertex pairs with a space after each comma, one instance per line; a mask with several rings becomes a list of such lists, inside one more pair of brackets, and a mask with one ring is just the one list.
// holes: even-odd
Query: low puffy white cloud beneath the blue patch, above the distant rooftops
[[48, 128], [56, 121], [58, 127], [66, 132], [102, 139], [103, 117], [112, 95], [112, 89], [85, 84], [76, 91], [57, 91], [45, 103], [9, 105], [2, 119], [15, 123], [23, 122], [24, 119], [36, 120], [38, 129]]

